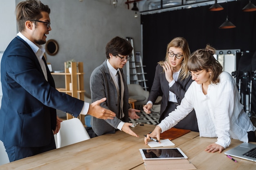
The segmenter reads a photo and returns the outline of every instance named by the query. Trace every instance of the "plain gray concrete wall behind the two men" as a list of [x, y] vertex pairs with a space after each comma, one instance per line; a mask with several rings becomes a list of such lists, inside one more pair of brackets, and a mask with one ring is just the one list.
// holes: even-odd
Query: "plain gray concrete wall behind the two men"
[[[16, 0], [16, 3], [22, 0]], [[141, 51], [140, 18], [134, 11], [114, 8], [110, 4], [95, 0], [41, 0], [50, 9], [52, 31], [47, 40], [59, 44], [57, 55], [47, 55], [53, 70], [64, 70], [64, 62], [74, 59], [84, 63], [85, 90], [90, 94], [90, 75], [105, 59], [105, 46], [115, 36], [132, 37], [134, 48]], [[64, 79], [54, 77], [58, 87]]]

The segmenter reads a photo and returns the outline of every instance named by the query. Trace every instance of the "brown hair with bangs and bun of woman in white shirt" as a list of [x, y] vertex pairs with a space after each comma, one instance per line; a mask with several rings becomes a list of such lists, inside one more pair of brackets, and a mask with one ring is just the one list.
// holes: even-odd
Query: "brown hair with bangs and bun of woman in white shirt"
[[222, 66], [218, 60], [214, 58], [215, 49], [209, 44], [205, 49], [198, 49], [189, 57], [188, 69], [189, 71], [206, 70], [211, 71], [210, 82], [217, 84], [220, 82], [219, 75], [222, 73]]

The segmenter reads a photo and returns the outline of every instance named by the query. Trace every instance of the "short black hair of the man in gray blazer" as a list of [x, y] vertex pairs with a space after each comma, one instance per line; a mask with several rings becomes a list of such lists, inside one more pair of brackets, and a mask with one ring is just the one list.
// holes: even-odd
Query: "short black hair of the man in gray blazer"
[[106, 45], [106, 57], [109, 57], [109, 54], [114, 56], [120, 55], [130, 55], [132, 53], [133, 47], [124, 38], [115, 37]]

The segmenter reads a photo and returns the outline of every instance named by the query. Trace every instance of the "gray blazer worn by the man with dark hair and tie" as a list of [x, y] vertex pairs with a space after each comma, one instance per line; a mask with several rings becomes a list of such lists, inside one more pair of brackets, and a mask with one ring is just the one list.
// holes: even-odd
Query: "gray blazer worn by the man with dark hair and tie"
[[106, 97], [107, 100], [103, 103], [101, 103], [101, 106], [103, 108], [107, 108], [111, 110], [112, 112], [116, 113], [117, 117], [114, 119], [97, 119], [95, 117], [91, 118], [91, 126], [92, 130], [96, 133], [96, 135], [103, 135], [106, 133], [115, 133], [115, 130], [117, 129], [118, 124], [121, 121], [128, 122], [128, 109], [130, 108], [128, 103], [128, 87], [127, 83], [124, 80], [124, 73], [123, 70], [120, 69], [123, 82], [124, 82], [124, 117], [121, 119], [118, 119], [119, 117], [119, 100], [118, 100], [118, 94], [117, 89], [115, 87], [115, 84], [113, 82], [113, 79], [109, 73], [108, 66], [107, 66], [107, 60], [103, 62], [100, 66], [94, 69], [92, 72], [92, 75], [90, 77], [90, 88], [91, 88], [91, 97], [92, 102], [95, 102], [103, 97]]

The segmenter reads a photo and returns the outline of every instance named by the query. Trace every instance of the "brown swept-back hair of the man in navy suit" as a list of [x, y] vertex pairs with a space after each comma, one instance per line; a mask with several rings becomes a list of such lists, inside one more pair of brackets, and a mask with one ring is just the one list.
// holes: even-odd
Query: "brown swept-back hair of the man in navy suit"
[[[48, 5], [44, 5], [40, 0], [26, 0], [19, 2], [16, 6], [16, 20], [20, 32], [25, 29], [25, 22], [39, 20], [42, 18], [41, 12], [50, 13]], [[34, 21], [36, 24], [36, 22]]]

